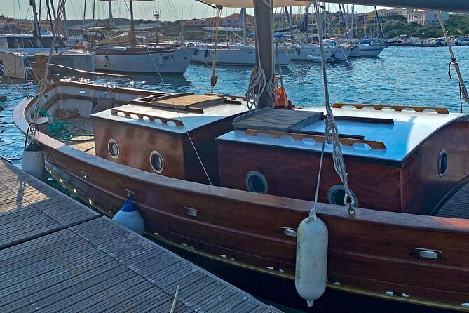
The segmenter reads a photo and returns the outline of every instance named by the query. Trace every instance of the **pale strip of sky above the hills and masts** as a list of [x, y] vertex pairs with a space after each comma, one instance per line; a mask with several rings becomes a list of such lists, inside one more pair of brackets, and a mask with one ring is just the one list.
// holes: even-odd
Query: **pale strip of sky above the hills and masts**
[[[57, 8], [58, 0], [54, 1], [55, 7]], [[67, 19], [76, 20], [83, 19], [83, 9], [85, 8], [86, 2], [86, 18], [91, 18], [93, 14], [93, 1], [94, 0], [66, 0], [65, 11], [67, 13]], [[46, 18], [46, 0], [36, 0], [36, 6], [42, 4], [41, 18]], [[95, 18], [108, 18], [108, 1], [95, 1]], [[338, 11], [338, 5], [327, 5], [329, 11]], [[112, 3], [114, 18], [128, 18], [130, 13], [128, 4], [126, 3]], [[161, 11], [161, 20], [180, 20], [191, 19], [191, 18], [208, 18], [215, 16], [215, 10], [200, 4], [194, 0], [149, 0], [144, 2], [134, 2], [134, 15], [135, 19], [153, 20], [153, 12]], [[372, 6], [367, 6], [367, 11], [372, 11]], [[277, 8], [280, 12], [280, 8]], [[300, 8], [294, 8], [293, 13], [299, 13]], [[301, 9], [302, 10], [302, 9]], [[351, 11], [351, 6], [349, 8]], [[355, 6], [355, 12], [365, 11], [364, 6]], [[224, 8], [222, 16], [231, 15], [238, 13], [239, 9], [235, 8]], [[252, 14], [251, 10], [247, 10], [247, 13]], [[32, 8], [29, 6], [29, 0], [0, 0], [0, 15], [32, 19]]]

